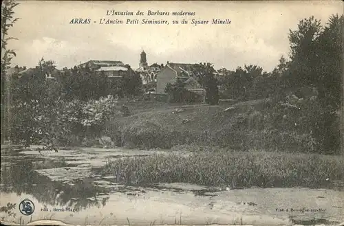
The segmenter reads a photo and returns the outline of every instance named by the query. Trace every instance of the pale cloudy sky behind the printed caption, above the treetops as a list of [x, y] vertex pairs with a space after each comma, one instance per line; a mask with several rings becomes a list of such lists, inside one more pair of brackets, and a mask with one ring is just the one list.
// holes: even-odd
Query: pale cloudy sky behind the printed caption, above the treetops
[[[323, 24], [331, 14], [343, 13], [343, 1], [18, 1], [20, 20], [9, 35], [18, 38], [8, 47], [17, 52], [12, 66], [34, 67], [40, 58], [56, 67], [74, 67], [87, 60], [120, 60], [138, 68], [140, 53], [153, 63], [213, 63], [215, 69], [259, 65], [264, 71], [288, 56], [289, 30], [314, 16]], [[107, 10], [133, 16], [107, 16]], [[136, 16], [136, 12], [144, 12]], [[147, 12], [169, 12], [148, 16]], [[172, 16], [171, 12], [195, 12]], [[72, 19], [89, 24], [71, 24]], [[100, 24], [119, 19], [124, 24]], [[125, 24], [127, 19], [169, 21], [169, 25]], [[173, 24], [185, 19], [188, 24]], [[191, 20], [229, 19], [230, 24], [192, 25]]]

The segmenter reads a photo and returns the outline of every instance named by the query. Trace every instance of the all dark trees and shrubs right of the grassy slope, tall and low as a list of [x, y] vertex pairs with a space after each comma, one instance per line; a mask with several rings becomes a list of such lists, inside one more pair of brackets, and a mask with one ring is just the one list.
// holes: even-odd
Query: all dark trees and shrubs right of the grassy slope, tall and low
[[[314, 151], [338, 151], [339, 111], [343, 102], [343, 24], [343, 15], [330, 16], [325, 26], [314, 16], [301, 20], [297, 30], [289, 33], [289, 59], [281, 56], [271, 73], [253, 65], [230, 71], [222, 78], [224, 95], [237, 100], [271, 98], [275, 104], [271, 114], [274, 129], [308, 133], [315, 140], [311, 142]], [[292, 104], [292, 95], [303, 103]]]

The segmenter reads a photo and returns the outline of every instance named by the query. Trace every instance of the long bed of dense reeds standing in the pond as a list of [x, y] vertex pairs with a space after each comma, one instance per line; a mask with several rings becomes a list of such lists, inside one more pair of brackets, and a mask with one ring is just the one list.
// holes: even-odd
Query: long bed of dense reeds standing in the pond
[[332, 181], [343, 179], [343, 159], [336, 156], [288, 154], [250, 150], [153, 155], [117, 159], [107, 163], [124, 183], [194, 183], [230, 188], [286, 188], [303, 186], [328, 188]]

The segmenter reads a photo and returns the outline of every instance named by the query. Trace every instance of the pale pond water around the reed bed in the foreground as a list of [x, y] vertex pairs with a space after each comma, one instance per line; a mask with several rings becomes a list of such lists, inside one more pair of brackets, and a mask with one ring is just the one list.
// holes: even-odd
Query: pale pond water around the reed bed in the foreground
[[[113, 174], [102, 172], [108, 159], [142, 157], [156, 152], [168, 153], [163, 150], [76, 148], [3, 154], [0, 204], [17, 203], [14, 209], [17, 215], [7, 216], [2, 212], [1, 216], [15, 223], [52, 219], [74, 225], [327, 225], [344, 221], [343, 192], [340, 191], [308, 188], [220, 190], [185, 183], [134, 187], [116, 183]], [[19, 212], [18, 205], [23, 199], [34, 203], [32, 216]], [[290, 208], [325, 212], [290, 212]]]

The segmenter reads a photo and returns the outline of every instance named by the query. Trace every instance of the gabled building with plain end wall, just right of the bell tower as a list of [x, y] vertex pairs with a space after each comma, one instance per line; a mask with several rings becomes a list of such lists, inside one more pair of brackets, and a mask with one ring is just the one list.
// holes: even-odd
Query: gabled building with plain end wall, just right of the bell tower
[[180, 80], [184, 82], [185, 88], [188, 91], [199, 95], [205, 95], [205, 90], [195, 79], [195, 68], [195, 64], [167, 62], [166, 67], [164, 67], [157, 75], [156, 93], [165, 93], [166, 84], [173, 84]]

